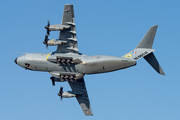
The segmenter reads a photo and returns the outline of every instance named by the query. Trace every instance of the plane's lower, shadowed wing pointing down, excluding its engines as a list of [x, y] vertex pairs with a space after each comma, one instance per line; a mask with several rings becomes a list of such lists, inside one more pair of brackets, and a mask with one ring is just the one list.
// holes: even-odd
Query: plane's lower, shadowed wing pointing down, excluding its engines
[[92, 116], [93, 114], [92, 114], [84, 78], [78, 79], [77, 82], [68, 81], [68, 83], [73, 92], [79, 93], [79, 95], [76, 95], [76, 99], [79, 102], [79, 105], [81, 106], [84, 114], [86, 116]]

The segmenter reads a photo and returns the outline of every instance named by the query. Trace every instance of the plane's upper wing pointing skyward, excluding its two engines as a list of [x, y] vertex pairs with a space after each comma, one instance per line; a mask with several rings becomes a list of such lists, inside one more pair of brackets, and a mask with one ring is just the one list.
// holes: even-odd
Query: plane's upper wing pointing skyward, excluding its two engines
[[58, 45], [56, 52], [78, 53], [73, 5], [64, 6], [61, 25], [70, 26], [70, 27], [60, 31], [59, 39], [67, 41], [67, 43]]

